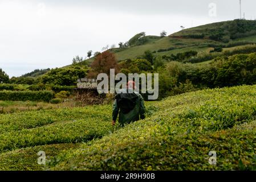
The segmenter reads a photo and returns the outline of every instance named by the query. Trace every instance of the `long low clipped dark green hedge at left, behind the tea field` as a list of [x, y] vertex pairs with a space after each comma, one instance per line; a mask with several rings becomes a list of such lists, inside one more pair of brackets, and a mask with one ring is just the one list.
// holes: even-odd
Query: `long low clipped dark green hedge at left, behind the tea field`
[[0, 100], [3, 101], [44, 101], [54, 98], [51, 91], [0, 91]]

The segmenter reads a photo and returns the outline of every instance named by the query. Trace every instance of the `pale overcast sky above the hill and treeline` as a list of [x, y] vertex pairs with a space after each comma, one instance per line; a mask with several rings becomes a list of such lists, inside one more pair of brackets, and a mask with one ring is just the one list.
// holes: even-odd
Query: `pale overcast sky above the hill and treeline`
[[[214, 4], [216, 5], [216, 13]], [[256, 1], [242, 0], [246, 19]], [[0, 0], [0, 68], [10, 77], [72, 63], [145, 31], [169, 34], [239, 18], [239, 0]]]

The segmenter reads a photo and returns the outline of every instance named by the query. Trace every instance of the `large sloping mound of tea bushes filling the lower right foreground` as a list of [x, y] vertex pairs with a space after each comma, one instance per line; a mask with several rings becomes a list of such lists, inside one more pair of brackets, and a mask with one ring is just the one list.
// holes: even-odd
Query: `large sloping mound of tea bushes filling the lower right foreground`
[[[155, 103], [142, 121], [59, 154], [55, 170], [255, 169], [256, 86], [203, 90]], [[208, 163], [217, 152], [217, 165]]]

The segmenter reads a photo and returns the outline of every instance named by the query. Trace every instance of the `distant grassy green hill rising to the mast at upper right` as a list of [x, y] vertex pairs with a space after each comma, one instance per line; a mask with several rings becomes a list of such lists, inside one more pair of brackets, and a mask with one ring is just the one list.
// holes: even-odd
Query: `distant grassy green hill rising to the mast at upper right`
[[[138, 40], [140, 39], [138, 38]], [[171, 55], [172, 53], [176, 55], [186, 51], [207, 53], [213, 49], [213, 44], [223, 44], [225, 46], [228, 43], [241, 43], [243, 45], [256, 43], [256, 21], [232, 20], [205, 24], [188, 28], [163, 38], [160, 36], [144, 36], [139, 45], [132, 44], [125, 48], [109, 50], [115, 53], [117, 60], [125, 60], [135, 59], [148, 50], [153, 52], [155, 56]], [[91, 63], [93, 60], [94, 58], [92, 57], [87, 61]]]

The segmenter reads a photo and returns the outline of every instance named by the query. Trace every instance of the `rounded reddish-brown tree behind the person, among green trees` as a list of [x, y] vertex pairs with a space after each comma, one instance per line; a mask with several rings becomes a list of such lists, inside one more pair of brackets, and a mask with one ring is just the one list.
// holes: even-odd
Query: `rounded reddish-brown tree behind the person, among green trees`
[[115, 73], [119, 72], [116, 57], [110, 51], [105, 51], [97, 55], [91, 64], [91, 68], [92, 70], [88, 73], [89, 78], [96, 78], [99, 73], [107, 73], [109, 76], [110, 69], [115, 69]]

